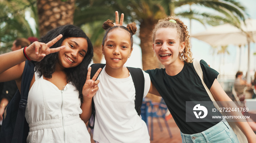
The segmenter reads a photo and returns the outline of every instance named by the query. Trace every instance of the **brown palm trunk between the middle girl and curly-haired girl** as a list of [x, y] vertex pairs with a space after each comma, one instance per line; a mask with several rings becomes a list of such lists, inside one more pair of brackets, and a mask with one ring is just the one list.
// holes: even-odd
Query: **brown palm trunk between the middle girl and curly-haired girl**
[[140, 47], [142, 50], [143, 70], [159, 68], [160, 63], [152, 49], [151, 31], [157, 20], [146, 19], [140, 24]]

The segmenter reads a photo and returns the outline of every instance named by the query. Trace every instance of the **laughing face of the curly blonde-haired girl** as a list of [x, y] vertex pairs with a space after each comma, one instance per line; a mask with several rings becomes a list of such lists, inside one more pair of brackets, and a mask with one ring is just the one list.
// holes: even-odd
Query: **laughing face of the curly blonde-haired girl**
[[185, 48], [177, 30], [174, 28], [160, 28], [155, 32], [153, 49], [162, 65], [170, 65], [179, 61], [179, 53]]

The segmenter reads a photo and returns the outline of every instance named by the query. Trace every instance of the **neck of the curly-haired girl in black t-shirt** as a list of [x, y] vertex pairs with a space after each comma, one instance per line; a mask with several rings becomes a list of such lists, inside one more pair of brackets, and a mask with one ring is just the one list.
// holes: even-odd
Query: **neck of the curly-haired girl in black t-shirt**
[[184, 67], [184, 61], [178, 60], [175, 63], [165, 65], [167, 75], [174, 76], [181, 72]]

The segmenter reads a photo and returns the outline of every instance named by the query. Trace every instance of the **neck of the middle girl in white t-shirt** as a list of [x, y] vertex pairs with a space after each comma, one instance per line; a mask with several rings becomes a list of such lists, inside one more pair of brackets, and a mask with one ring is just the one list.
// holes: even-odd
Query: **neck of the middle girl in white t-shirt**
[[129, 77], [129, 71], [127, 67], [124, 66], [121, 66], [120, 68], [112, 68], [106, 64], [105, 71], [113, 78], [124, 79]]

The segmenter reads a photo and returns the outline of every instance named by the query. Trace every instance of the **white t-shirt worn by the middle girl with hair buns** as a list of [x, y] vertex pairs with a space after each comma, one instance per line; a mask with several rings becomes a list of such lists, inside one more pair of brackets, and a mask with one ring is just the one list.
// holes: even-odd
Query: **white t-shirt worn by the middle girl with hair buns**
[[[143, 71], [144, 96], [150, 88], [150, 77]], [[150, 143], [146, 123], [135, 110], [135, 87], [131, 74], [117, 79], [105, 67], [98, 76], [99, 90], [94, 95], [95, 124], [93, 139], [99, 143]]]

